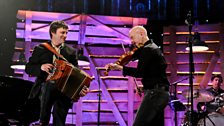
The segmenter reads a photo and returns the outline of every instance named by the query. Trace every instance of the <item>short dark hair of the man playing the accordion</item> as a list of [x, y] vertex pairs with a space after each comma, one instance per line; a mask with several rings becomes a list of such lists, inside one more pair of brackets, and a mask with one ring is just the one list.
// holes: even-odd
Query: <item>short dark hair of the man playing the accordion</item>
[[68, 29], [68, 25], [64, 21], [51, 22], [50, 29], [49, 29], [49, 34], [50, 34], [51, 38], [52, 38], [51, 32], [56, 33], [57, 29], [59, 29], [59, 28]]

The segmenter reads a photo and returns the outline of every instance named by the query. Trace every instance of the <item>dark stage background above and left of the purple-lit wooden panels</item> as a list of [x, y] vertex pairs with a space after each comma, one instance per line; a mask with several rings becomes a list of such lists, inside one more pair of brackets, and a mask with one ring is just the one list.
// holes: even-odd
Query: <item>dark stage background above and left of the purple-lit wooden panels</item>
[[0, 75], [12, 75], [17, 10], [34, 10], [148, 18], [145, 26], [162, 45], [165, 25], [184, 25], [186, 15], [199, 24], [224, 19], [224, 0], [0, 0]]

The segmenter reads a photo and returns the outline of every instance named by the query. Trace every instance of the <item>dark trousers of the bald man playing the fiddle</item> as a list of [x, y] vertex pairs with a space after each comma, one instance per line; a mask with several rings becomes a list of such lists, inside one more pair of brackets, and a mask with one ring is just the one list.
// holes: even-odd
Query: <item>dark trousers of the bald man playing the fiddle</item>
[[[169, 92], [163, 89], [144, 91], [144, 98], [137, 111], [133, 126], [164, 126], [163, 110], [169, 102]], [[163, 120], [162, 120], [163, 122]]]

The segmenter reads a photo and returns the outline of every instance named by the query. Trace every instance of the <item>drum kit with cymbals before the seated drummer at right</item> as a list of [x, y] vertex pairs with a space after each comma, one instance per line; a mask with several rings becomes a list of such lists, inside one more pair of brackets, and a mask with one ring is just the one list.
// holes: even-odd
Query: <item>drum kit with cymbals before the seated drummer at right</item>
[[[191, 98], [191, 91], [184, 90], [182, 95], [186, 99]], [[206, 90], [193, 90], [193, 99], [198, 103], [204, 103], [203, 111], [186, 111], [181, 126], [223, 126], [224, 125], [224, 93], [213, 96]], [[209, 109], [206, 110], [206, 109]], [[190, 117], [193, 116], [193, 122], [190, 123]]]

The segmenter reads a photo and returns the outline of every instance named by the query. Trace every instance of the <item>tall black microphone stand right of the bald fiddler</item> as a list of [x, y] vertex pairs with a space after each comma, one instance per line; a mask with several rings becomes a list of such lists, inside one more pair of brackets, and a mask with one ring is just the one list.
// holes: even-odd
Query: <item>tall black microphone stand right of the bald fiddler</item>
[[191, 11], [188, 12], [187, 14], [187, 19], [185, 20], [185, 23], [188, 25], [188, 29], [189, 29], [189, 84], [190, 84], [190, 92], [191, 92], [191, 96], [190, 96], [190, 100], [191, 100], [191, 112], [190, 112], [190, 126], [193, 126], [193, 111], [194, 111], [194, 105], [193, 105], [193, 73], [194, 73], [194, 62], [193, 62], [193, 49], [192, 49], [192, 15], [191, 15]]

